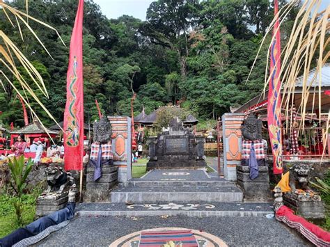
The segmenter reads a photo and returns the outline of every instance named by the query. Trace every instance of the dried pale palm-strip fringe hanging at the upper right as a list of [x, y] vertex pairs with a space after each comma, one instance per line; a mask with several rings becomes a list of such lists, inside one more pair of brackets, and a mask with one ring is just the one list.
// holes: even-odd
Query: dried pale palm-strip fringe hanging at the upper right
[[[288, 15], [288, 13], [290, 13], [292, 6], [298, 2], [299, 1], [296, 0], [289, 1], [285, 4], [285, 6], [283, 6], [283, 8], [281, 8], [281, 10], [278, 11], [278, 15], [276, 15], [272, 20], [268, 31], [265, 33], [265, 36], [262, 39], [260, 49], [262, 45], [264, 45], [265, 39], [267, 35], [269, 35], [269, 31], [272, 31], [276, 17], [281, 19], [281, 26], [281, 24], [285, 22], [285, 17]], [[303, 1], [301, 8], [295, 18], [295, 22], [292, 26], [290, 38], [282, 50], [283, 57], [281, 58], [280, 77], [282, 81], [283, 95], [293, 95], [296, 87], [297, 77], [300, 75], [299, 73], [302, 72], [304, 75], [301, 93], [301, 106], [299, 106], [297, 111], [297, 113], [301, 115], [301, 120], [299, 120], [299, 130], [304, 129], [304, 125], [301, 125], [301, 123], [304, 123], [305, 121], [308, 99], [309, 97], [313, 97], [313, 99], [315, 99], [315, 94], [318, 94], [318, 99], [316, 99], [316, 102], [313, 102], [313, 108], [317, 106], [317, 111], [319, 111], [319, 118], [321, 121], [321, 68], [324, 63], [327, 62], [330, 56], [330, 51], [327, 51], [326, 49], [330, 42], [329, 35], [327, 35], [327, 33], [329, 34], [330, 32], [330, 5], [328, 5], [325, 10], [320, 11], [321, 3], [322, 0]], [[272, 38], [272, 41], [273, 40], [274, 38]], [[256, 59], [258, 58], [258, 54]], [[268, 58], [269, 52], [267, 54], [267, 60]], [[317, 73], [315, 73], [315, 77], [313, 77], [311, 82], [307, 83], [308, 74], [311, 70], [311, 64], [315, 58], [317, 58], [317, 66], [315, 68]], [[253, 70], [253, 66], [251, 71]], [[268, 67], [266, 67], [264, 93], [269, 84], [269, 80], [271, 79], [270, 74], [272, 73], [268, 74]], [[246, 79], [246, 81], [247, 80], [249, 80], [249, 77]], [[313, 93], [310, 93], [311, 88], [315, 88]], [[286, 101], [282, 102], [282, 108], [285, 109], [285, 119], [287, 120], [290, 119], [288, 118], [288, 115], [290, 114], [292, 118], [293, 114], [292, 111], [290, 111], [290, 103], [292, 103], [290, 97], [287, 97]], [[328, 131], [329, 124], [327, 124], [326, 133]], [[327, 138], [327, 136], [324, 135], [323, 138]]]

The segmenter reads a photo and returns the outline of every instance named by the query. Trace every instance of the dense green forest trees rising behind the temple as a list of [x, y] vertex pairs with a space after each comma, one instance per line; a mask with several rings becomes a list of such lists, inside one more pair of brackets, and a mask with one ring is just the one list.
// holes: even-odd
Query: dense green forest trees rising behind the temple
[[[29, 15], [54, 26], [66, 44], [63, 46], [51, 29], [29, 22], [54, 60], [25, 26], [22, 40], [19, 29], [13, 29], [2, 11], [0, 15], [0, 29], [10, 35], [45, 80], [50, 98], [38, 93], [38, 88], [36, 93], [59, 121], [65, 108], [68, 47], [77, 2], [29, 1]], [[283, 4], [285, 1], [280, 1], [280, 7]], [[10, 5], [25, 11], [25, 0], [10, 1]], [[106, 114], [130, 115], [132, 89], [137, 93], [136, 114], [142, 106], [150, 113], [158, 106], [180, 104], [206, 120], [230, 111], [230, 106], [243, 104], [263, 88], [266, 47], [247, 83], [246, 78], [273, 13], [268, 0], [159, 0], [150, 4], [146, 21], [127, 15], [107, 19], [97, 4], [86, 1], [86, 121], [97, 118], [95, 98]], [[288, 15], [281, 28], [282, 46], [293, 17]], [[24, 71], [22, 67], [20, 70]], [[14, 122], [15, 127], [22, 127], [22, 105], [6, 80], [1, 79], [0, 118], [6, 126]], [[45, 124], [53, 124], [38, 104], [31, 102], [31, 106]]]

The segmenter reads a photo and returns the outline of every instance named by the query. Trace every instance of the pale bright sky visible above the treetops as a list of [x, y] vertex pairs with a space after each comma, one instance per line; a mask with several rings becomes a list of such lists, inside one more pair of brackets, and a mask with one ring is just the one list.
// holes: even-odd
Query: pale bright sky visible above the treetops
[[[116, 19], [122, 15], [132, 15], [146, 20], [147, 9], [150, 3], [156, 0], [94, 0], [101, 7], [103, 15], [109, 19]], [[323, 0], [321, 9], [326, 8], [330, 0]]]

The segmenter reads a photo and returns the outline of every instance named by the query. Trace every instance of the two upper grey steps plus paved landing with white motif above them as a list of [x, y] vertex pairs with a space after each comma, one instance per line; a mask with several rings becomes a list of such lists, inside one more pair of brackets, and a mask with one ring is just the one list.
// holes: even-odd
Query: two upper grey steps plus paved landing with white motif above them
[[242, 202], [233, 182], [210, 177], [204, 170], [152, 170], [140, 179], [120, 184], [111, 202]]

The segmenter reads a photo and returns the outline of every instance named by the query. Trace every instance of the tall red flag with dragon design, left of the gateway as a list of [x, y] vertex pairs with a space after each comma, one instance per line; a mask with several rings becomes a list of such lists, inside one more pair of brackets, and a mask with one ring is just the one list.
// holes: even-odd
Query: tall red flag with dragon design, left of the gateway
[[67, 95], [64, 112], [64, 168], [82, 170], [84, 157], [84, 80], [82, 27], [84, 0], [79, 0], [70, 41]]

